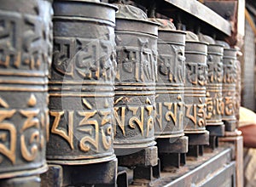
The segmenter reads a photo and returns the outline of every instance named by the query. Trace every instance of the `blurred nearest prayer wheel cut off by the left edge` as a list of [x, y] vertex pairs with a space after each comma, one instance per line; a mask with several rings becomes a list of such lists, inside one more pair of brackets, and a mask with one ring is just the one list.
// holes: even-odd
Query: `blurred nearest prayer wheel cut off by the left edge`
[[51, 3], [0, 2], [0, 178], [44, 173]]

